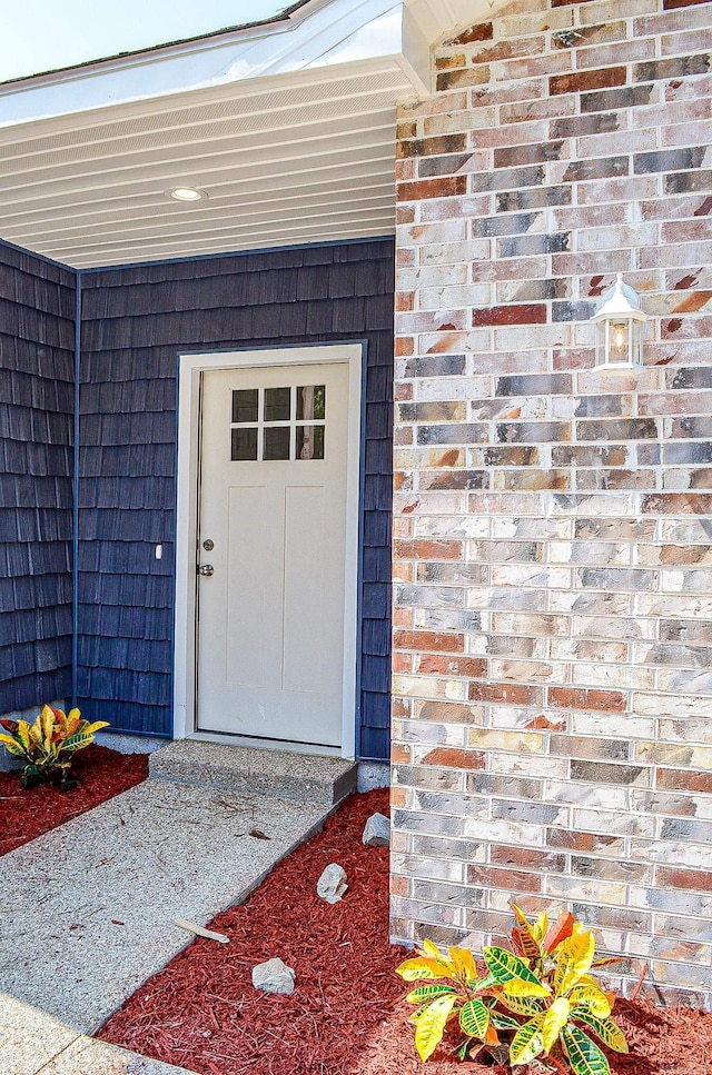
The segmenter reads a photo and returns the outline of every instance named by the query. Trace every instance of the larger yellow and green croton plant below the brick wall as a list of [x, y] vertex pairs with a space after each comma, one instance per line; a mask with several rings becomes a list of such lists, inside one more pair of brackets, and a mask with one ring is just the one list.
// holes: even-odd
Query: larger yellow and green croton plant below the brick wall
[[490, 1059], [516, 1073], [610, 1075], [596, 1041], [619, 1053], [627, 1045], [611, 1018], [614, 994], [590, 972], [616, 960], [594, 960], [593, 934], [567, 912], [550, 926], [545, 913], [532, 924], [512, 909], [511, 950], [484, 948], [484, 973], [468, 948], [445, 956], [429, 940], [398, 967], [402, 978], [418, 983], [407, 999], [417, 1005], [411, 1022], [422, 1059], [451, 1024], [461, 1035], [461, 1059]]

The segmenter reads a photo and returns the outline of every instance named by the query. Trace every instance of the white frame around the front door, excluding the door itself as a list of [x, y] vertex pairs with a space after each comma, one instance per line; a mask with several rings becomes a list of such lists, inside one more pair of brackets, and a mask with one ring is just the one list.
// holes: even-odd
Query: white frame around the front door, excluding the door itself
[[[198, 733], [197, 725], [197, 574], [198, 485], [200, 446], [201, 375], [212, 369], [249, 369], [266, 366], [348, 366], [348, 430], [346, 456], [346, 553], [344, 593], [344, 684], [342, 691], [340, 756], [356, 756], [358, 579], [362, 452], [362, 382], [365, 368], [364, 341], [337, 344], [290, 344], [283, 347], [245, 347], [219, 351], [184, 351], [178, 355], [178, 446], [176, 459], [176, 595], [174, 645], [174, 738], [188, 737], [227, 741], [261, 749], [279, 748], [241, 736]], [[284, 744], [304, 753], [298, 744]], [[320, 753], [327, 754], [325, 748]]]

